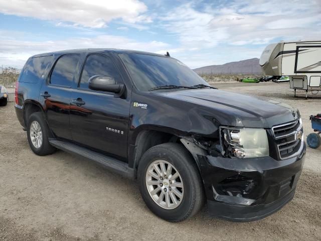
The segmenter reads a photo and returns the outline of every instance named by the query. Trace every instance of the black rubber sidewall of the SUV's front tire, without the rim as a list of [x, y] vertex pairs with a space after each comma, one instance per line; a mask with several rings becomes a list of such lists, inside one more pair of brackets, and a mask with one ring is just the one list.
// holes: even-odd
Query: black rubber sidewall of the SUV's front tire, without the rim
[[[191, 213], [194, 203], [195, 203], [195, 185], [193, 183], [193, 178], [191, 178], [193, 171], [190, 170], [187, 165], [184, 165], [184, 161], [180, 160], [183, 157], [176, 155], [172, 150], [163, 150], [158, 152], [156, 155], [153, 151], [147, 151], [138, 167], [138, 182], [139, 189], [143, 200], [145, 201], [148, 208], [158, 215], [169, 221], [178, 221], [179, 219], [185, 219], [184, 217]], [[184, 196], [181, 204], [174, 209], [164, 209], [158, 206], [152, 197], [149, 195], [146, 187], [146, 172], [149, 165], [156, 160], [165, 160], [171, 163], [175, 169], [180, 173], [184, 185]]]

